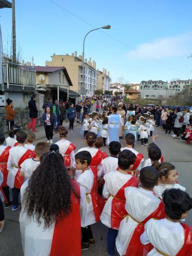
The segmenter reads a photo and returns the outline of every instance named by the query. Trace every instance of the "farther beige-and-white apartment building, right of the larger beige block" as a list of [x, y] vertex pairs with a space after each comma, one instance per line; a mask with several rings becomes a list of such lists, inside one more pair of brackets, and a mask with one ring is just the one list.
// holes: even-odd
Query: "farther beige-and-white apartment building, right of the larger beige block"
[[110, 85], [109, 71], [107, 73], [105, 68], [103, 68], [103, 72], [97, 69], [97, 89], [102, 89], [103, 93], [105, 93], [105, 91], [110, 91]]

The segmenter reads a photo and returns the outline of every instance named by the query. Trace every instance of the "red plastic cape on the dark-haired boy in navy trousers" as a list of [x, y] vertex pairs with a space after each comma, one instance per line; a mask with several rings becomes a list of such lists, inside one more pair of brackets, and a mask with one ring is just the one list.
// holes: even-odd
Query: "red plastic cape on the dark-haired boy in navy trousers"
[[123, 187], [119, 189], [117, 194], [113, 197], [111, 207], [111, 227], [112, 229], [118, 229], [120, 222], [127, 215], [125, 210], [125, 192], [124, 189], [127, 187], [138, 187], [138, 179], [136, 176], [132, 176]]

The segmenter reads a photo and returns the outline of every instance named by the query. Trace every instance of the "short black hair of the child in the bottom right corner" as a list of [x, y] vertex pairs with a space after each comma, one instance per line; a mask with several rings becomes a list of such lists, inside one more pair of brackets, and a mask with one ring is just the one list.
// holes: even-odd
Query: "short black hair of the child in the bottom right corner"
[[181, 189], [166, 189], [162, 197], [165, 204], [165, 213], [170, 219], [178, 221], [181, 219], [182, 214], [192, 209], [192, 198]]

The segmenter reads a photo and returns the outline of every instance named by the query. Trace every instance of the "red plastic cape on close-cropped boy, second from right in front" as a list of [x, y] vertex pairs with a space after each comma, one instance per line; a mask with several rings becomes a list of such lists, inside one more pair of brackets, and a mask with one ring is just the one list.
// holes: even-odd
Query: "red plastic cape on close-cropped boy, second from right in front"
[[[152, 212], [146, 219], [144, 219], [144, 221], [142, 221], [142, 223], [145, 224], [148, 220], [150, 220], [152, 218], [164, 219], [165, 217], [166, 217], [165, 205], [163, 204], [163, 201], [161, 200], [158, 208], [154, 212]], [[129, 217], [129, 218], [131, 218], [131, 217]], [[148, 252], [150, 252], [153, 249], [153, 245], [151, 245], [150, 243], [146, 244], [146, 245], [143, 245], [141, 243], [140, 236], [143, 234], [143, 232], [144, 232], [144, 226], [141, 224], [138, 224], [136, 226], [135, 231], [133, 232], [133, 235], [129, 242], [125, 256], [129, 256], [129, 255], [131, 255], [131, 256], [138, 256], [138, 255], [146, 256], [148, 254]]]

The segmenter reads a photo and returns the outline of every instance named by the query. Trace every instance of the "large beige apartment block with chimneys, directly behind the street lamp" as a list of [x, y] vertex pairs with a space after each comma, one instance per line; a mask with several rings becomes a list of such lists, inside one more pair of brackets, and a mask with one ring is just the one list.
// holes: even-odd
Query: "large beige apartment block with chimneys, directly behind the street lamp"
[[[48, 67], [66, 67], [71, 82], [73, 84], [73, 90], [81, 93], [83, 83], [83, 72], [82, 72], [82, 55], [77, 57], [77, 52], [65, 55], [55, 55], [53, 53], [52, 61], [46, 61], [45, 65]], [[97, 90], [97, 70], [96, 62], [91, 58], [89, 61], [84, 59], [84, 84], [86, 89], [86, 95], [91, 97], [94, 95], [94, 90]]]

